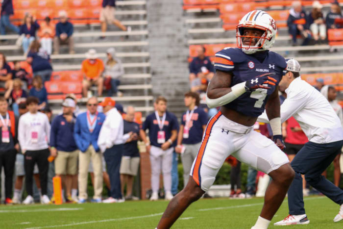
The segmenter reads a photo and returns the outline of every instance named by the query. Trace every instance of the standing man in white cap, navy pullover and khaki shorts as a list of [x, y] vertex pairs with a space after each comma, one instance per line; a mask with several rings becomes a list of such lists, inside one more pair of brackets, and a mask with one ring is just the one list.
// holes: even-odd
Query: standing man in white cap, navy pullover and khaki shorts
[[75, 102], [65, 99], [63, 114], [56, 116], [51, 124], [50, 151], [55, 158], [55, 174], [62, 178], [67, 202], [73, 203], [72, 182], [77, 174], [78, 151], [73, 137], [76, 117], [73, 115]]

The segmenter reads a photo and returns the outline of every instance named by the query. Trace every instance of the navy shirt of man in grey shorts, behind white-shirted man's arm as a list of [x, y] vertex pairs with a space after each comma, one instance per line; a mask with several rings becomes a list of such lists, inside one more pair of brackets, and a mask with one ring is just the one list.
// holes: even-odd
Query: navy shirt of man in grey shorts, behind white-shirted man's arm
[[[139, 130], [140, 130], [140, 127], [138, 123], [128, 122], [124, 120], [124, 134], [132, 131], [133, 133], [136, 133], [137, 135], [139, 135]], [[138, 141], [136, 140], [136, 141], [125, 143], [123, 156], [131, 156], [131, 157], [140, 156], [137, 142]]]

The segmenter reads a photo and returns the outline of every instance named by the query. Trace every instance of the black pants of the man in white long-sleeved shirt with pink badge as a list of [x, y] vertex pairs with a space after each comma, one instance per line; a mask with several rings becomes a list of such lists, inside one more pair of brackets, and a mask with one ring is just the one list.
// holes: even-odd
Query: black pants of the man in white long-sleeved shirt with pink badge
[[48, 170], [49, 170], [49, 149], [38, 151], [26, 151], [24, 160], [25, 186], [28, 195], [33, 195], [32, 181], [35, 163], [38, 165], [39, 180], [41, 182], [42, 195], [47, 195]]

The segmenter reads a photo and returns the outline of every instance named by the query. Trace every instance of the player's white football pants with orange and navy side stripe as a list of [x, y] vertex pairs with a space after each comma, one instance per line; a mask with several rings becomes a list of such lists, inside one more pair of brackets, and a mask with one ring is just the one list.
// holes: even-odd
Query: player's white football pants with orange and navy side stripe
[[202, 190], [212, 186], [229, 155], [266, 174], [289, 163], [287, 155], [269, 138], [253, 131], [253, 127], [227, 119], [219, 111], [207, 124], [190, 173]]

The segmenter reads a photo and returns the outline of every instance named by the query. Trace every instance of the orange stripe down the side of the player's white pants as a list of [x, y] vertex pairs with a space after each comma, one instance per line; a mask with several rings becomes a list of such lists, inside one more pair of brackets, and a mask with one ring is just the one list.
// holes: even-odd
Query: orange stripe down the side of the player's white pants
[[196, 164], [194, 165], [194, 169], [193, 169], [193, 179], [196, 181], [197, 185], [200, 186], [200, 179], [199, 179], [199, 169], [200, 169], [200, 163], [202, 160], [202, 156], [205, 152], [205, 148], [208, 142], [208, 138], [210, 137], [210, 133], [212, 130], [213, 125], [215, 124], [215, 122], [218, 120], [219, 116], [221, 116], [221, 111], [219, 111], [208, 123], [206, 130], [205, 130], [205, 137], [204, 140], [201, 143], [200, 149], [199, 149], [199, 153], [196, 156]]

